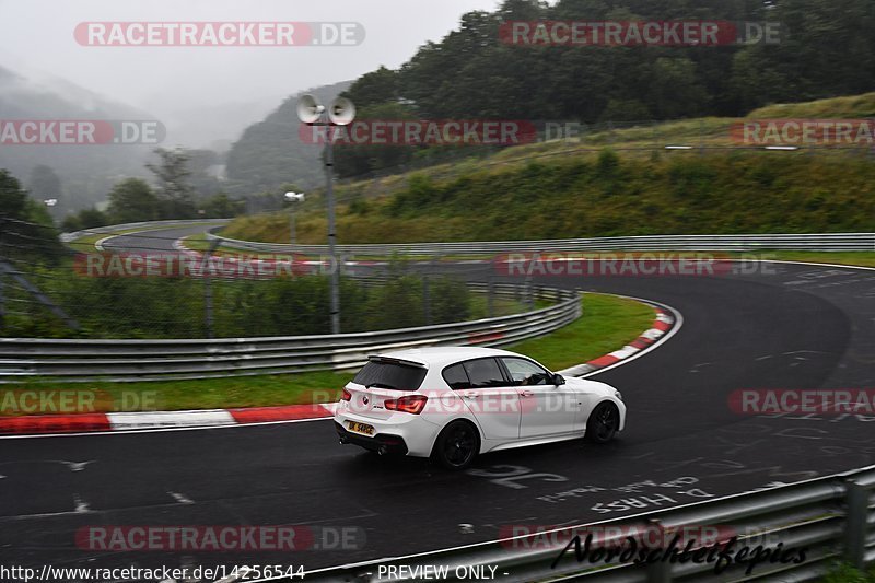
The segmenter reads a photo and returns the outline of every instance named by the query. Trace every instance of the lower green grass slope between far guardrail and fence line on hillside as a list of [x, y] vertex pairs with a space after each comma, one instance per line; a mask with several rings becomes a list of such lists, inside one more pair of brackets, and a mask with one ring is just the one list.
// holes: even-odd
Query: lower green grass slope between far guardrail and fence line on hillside
[[[365, 213], [341, 206], [337, 232], [343, 244], [868, 232], [873, 184], [873, 161], [851, 154], [585, 153], [441, 180], [407, 176], [406, 188], [370, 201]], [[285, 223], [282, 215], [247, 217], [225, 234], [283, 241]], [[325, 232], [322, 213], [300, 218], [302, 243], [320, 243]]]

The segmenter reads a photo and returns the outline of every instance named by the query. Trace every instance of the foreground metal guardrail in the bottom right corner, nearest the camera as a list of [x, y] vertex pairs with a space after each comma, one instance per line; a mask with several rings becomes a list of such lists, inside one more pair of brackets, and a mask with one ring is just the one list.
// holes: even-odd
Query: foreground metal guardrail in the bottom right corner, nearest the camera
[[[801, 563], [781, 563], [766, 560], [754, 568], [734, 563], [721, 574], [715, 574], [714, 562], [697, 564], [654, 562], [637, 565], [614, 559], [597, 565], [578, 562], [573, 548], [562, 553], [573, 536], [585, 539], [587, 533], [604, 535], [598, 547], [617, 545], [627, 536], [645, 534], [656, 528], [670, 540], [675, 533], [703, 533], [713, 529], [720, 540], [737, 534], [735, 550], [757, 545], [781, 550], [806, 549]], [[545, 540], [561, 540], [548, 545]], [[645, 538], [646, 540], [646, 538]], [[665, 538], [661, 537], [661, 541]], [[656, 548], [657, 546], [654, 545]], [[596, 548], [596, 545], [593, 546]], [[682, 550], [682, 546], [681, 546]], [[798, 555], [794, 555], [798, 557]], [[410, 557], [383, 559], [312, 571], [306, 574], [313, 582], [412, 581], [415, 576], [392, 576], [399, 573], [390, 567], [409, 569], [430, 565], [445, 567], [446, 581], [462, 579], [456, 568], [494, 567], [495, 579], [503, 582], [526, 581], [593, 581], [669, 583], [672, 581], [813, 581], [824, 576], [835, 562], [844, 561], [858, 568], [875, 561], [875, 466], [847, 474], [817, 478], [803, 483], [747, 492], [704, 501], [676, 509], [604, 521], [575, 527], [544, 532], [499, 541], [468, 545], [456, 549], [427, 552]], [[381, 570], [382, 568], [382, 570]], [[421, 571], [420, 571], [421, 572]], [[460, 571], [459, 571], [460, 572]], [[487, 569], [487, 573], [490, 571]], [[501, 576], [498, 576], [501, 575]]]

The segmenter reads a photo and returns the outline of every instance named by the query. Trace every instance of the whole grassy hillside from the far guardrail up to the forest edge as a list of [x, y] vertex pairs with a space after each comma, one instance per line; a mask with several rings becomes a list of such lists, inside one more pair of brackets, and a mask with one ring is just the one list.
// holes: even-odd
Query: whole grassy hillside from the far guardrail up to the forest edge
[[[863, 117], [875, 94], [775, 105], [751, 117]], [[558, 238], [668, 233], [875, 230], [865, 150], [727, 149], [734, 119], [595, 131], [338, 187], [341, 243]], [[666, 151], [665, 144], [693, 144]], [[609, 150], [606, 148], [609, 147]], [[701, 147], [701, 149], [700, 149]], [[301, 243], [325, 240], [324, 206], [299, 211]], [[241, 218], [229, 236], [287, 242], [284, 212]]]

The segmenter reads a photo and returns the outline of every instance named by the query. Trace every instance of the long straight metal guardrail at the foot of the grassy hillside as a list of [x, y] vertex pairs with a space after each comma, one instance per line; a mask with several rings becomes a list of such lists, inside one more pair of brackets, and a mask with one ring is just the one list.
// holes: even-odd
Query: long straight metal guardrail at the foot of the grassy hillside
[[[258, 243], [224, 237], [221, 228], [211, 229], [208, 237], [223, 245], [255, 253], [300, 253], [327, 255], [327, 245], [289, 245]], [[341, 255], [495, 255], [535, 252], [588, 250], [875, 250], [875, 233], [812, 233], [775, 235], [642, 235], [627, 237], [559, 238], [550, 241], [489, 241], [462, 243], [398, 243], [390, 245], [338, 245]]]

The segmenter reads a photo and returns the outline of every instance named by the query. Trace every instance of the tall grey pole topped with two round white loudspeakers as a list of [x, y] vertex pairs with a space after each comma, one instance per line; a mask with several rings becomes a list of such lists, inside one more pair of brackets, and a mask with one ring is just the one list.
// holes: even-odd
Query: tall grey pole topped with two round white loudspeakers
[[340, 264], [337, 260], [335, 244], [335, 191], [334, 191], [334, 148], [331, 126], [347, 126], [355, 119], [355, 106], [346, 97], [337, 97], [328, 107], [328, 119], [325, 119], [325, 106], [314, 95], [303, 95], [298, 100], [298, 118], [308, 126], [325, 126], [325, 202], [328, 206], [328, 254], [331, 256], [331, 334], [340, 334]]

